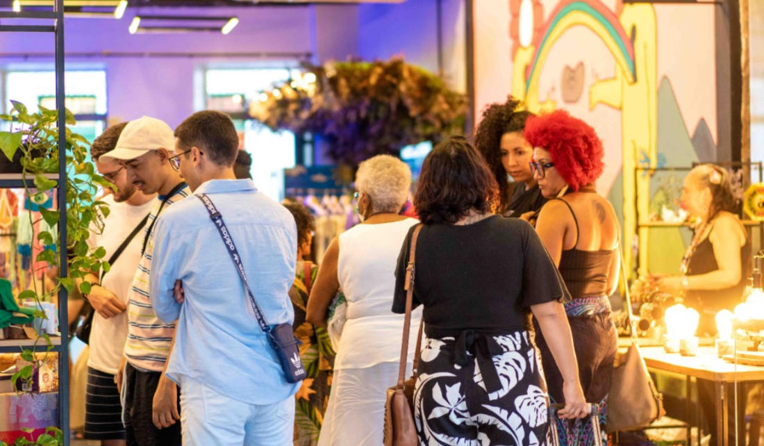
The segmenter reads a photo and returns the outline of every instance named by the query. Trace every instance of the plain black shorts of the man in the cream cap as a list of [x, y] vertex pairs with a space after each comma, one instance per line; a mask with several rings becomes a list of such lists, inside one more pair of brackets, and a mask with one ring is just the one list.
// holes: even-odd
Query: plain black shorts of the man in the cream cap
[[[125, 431], [128, 446], [180, 446], [180, 420], [169, 428], [157, 429], [154, 414], [154, 393], [160, 372], [141, 372], [129, 363], [125, 366]], [[180, 387], [178, 388], [180, 412]]]

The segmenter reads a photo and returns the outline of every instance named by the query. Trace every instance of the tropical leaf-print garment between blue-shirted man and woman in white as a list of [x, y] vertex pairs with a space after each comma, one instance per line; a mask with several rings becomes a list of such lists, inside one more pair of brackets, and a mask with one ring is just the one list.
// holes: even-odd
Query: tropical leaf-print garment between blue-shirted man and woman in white
[[[311, 283], [316, 283], [319, 269], [313, 265]], [[294, 418], [295, 446], [315, 446], [323, 424], [326, 406], [329, 403], [329, 390], [332, 385], [332, 365], [335, 352], [329, 334], [325, 328], [317, 328], [306, 322], [308, 289], [306, 287], [305, 268], [299, 262], [296, 277], [290, 289], [290, 299], [294, 306], [294, 335], [303, 344], [299, 348], [300, 357], [308, 372], [302, 386], [295, 395], [296, 411]]]

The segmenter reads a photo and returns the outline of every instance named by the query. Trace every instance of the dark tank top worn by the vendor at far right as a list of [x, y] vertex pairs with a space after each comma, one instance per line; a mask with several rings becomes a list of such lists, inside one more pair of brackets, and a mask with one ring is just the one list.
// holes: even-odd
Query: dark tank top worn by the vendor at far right
[[[712, 228], [713, 230], [713, 228]], [[711, 232], [709, 232], [711, 234]], [[691, 289], [687, 293], [687, 301], [690, 306], [716, 312], [720, 309], [732, 311], [735, 306], [743, 301], [743, 292], [746, 290], [747, 278], [750, 273], [748, 264], [751, 258], [751, 242], [746, 237], [746, 244], [740, 247], [740, 282], [735, 286], [725, 289]], [[711, 273], [719, 269], [719, 264], [714, 256], [714, 244], [709, 238], [704, 238], [695, 248], [688, 263], [688, 276], [699, 276]]]

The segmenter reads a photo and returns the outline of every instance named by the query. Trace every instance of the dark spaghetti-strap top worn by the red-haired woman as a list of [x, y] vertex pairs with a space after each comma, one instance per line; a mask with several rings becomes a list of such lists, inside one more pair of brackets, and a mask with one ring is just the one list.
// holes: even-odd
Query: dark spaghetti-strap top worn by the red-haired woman
[[573, 249], [562, 251], [558, 267], [560, 275], [565, 280], [565, 286], [568, 287], [568, 292], [571, 293], [573, 299], [607, 296], [607, 275], [610, 273], [610, 265], [613, 264], [613, 260], [618, 255], [617, 248], [596, 251], [576, 249], [580, 236], [578, 219], [575, 218], [575, 212], [568, 202], [564, 199], [558, 200], [565, 203], [570, 209], [576, 230]]

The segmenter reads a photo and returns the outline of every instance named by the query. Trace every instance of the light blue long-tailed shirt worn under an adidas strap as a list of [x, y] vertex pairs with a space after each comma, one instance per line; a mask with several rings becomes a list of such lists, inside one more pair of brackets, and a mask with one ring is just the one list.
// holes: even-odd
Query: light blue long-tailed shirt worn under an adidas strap
[[[249, 179], [208, 181], [176, 202], [154, 228], [151, 303], [164, 322], [177, 320], [167, 376], [206, 384], [232, 399], [274, 404], [293, 396], [280, 362], [257, 325], [251, 303], [220, 233], [196, 195], [212, 199], [225, 221], [254, 297], [270, 325], [292, 323], [288, 296], [296, 265], [297, 230], [282, 205]], [[173, 297], [183, 280], [186, 300]]]

